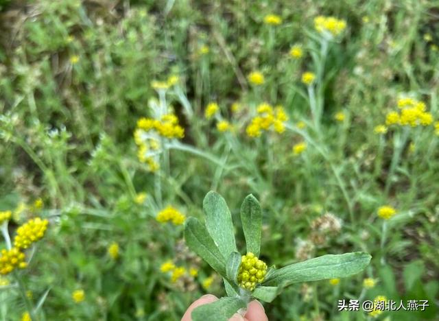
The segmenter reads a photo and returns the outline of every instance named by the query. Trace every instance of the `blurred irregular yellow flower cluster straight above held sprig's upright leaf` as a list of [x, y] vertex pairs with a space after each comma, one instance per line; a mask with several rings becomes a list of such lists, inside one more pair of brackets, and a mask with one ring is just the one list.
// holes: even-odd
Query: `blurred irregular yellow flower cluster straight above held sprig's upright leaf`
[[274, 128], [279, 134], [285, 131], [285, 121], [288, 120], [287, 114], [282, 106], [273, 108], [270, 104], [262, 103], [257, 107], [258, 115], [254, 117], [247, 126], [246, 132], [250, 137], [259, 137], [263, 130]]

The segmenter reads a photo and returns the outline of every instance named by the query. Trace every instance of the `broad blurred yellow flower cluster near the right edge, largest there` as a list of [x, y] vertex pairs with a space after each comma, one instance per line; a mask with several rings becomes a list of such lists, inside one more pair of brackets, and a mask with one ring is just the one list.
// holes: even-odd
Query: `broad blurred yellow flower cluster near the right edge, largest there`
[[385, 124], [401, 126], [429, 126], [433, 122], [433, 116], [426, 112], [424, 102], [412, 98], [401, 98], [398, 100], [400, 112], [388, 112], [385, 117]]

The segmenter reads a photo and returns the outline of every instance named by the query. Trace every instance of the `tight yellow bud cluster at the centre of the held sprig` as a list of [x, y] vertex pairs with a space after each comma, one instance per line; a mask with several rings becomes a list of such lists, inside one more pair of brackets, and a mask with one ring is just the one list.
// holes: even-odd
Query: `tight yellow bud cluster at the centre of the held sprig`
[[244, 289], [253, 291], [258, 283], [261, 283], [267, 274], [267, 264], [248, 252], [241, 257], [241, 265], [238, 272], [238, 283]]

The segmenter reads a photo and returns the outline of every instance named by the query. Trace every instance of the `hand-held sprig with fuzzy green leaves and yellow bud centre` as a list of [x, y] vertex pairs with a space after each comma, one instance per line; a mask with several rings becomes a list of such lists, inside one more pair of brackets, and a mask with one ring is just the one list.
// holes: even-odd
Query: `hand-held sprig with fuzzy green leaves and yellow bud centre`
[[193, 310], [193, 321], [226, 321], [237, 311], [245, 311], [252, 298], [272, 302], [284, 287], [293, 283], [343, 278], [364, 270], [370, 255], [352, 252], [324, 255], [287, 265], [278, 270], [267, 269], [259, 259], [261, 247], [261, 206], [248, 195], [241, 206], [241, 222], [246, 239], [246, 255], [237, 251], [233, 222], [226, 201], [210, 191], [203, 201], [205, 224], [189, 217], [185, 224], [187, 246], [209, 263], [224, 279], [227, 297]]

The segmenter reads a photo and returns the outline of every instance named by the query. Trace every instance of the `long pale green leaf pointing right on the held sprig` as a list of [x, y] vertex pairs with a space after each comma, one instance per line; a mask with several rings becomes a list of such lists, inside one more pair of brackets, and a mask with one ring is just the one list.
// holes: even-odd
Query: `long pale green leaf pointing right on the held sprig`
[[292, 283], [344, 278], [364, 270], [372, 257], [368, 253], [353, 252], [324, 255], [274, 271], [263, 285], [287, 286]]

